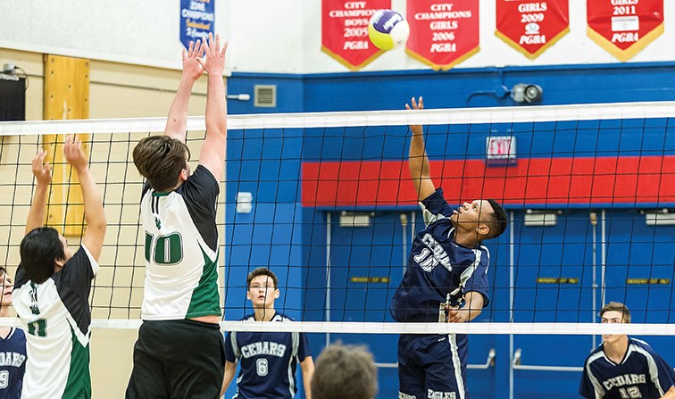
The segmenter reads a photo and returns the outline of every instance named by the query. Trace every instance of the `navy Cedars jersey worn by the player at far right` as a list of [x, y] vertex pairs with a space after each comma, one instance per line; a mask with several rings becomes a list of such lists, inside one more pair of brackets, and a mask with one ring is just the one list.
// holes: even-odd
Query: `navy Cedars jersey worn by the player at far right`
[[603, 345], [584, 363], [579, 395], [588, 399], [660, 398], [675, 385], [675, 371], [645, 341], [629, 337], [621, 364], [604, 355]]

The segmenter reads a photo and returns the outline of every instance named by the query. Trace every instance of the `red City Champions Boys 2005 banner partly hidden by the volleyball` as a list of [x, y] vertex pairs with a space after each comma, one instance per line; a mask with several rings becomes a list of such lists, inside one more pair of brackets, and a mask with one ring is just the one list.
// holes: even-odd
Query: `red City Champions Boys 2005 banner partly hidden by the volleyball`
[[321, 51], [351, 71], [358, 71], [384, 53], [371, 43], [371, 15], [390, 9], [391, 0], [323, 0], [321, 3]]

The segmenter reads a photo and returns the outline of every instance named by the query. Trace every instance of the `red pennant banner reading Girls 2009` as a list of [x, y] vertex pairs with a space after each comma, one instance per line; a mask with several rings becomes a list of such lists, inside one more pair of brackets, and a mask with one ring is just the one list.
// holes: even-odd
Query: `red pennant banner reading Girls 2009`
[[496, 37], [530, 60], [569, 31], [569, 0], [496, 0]]

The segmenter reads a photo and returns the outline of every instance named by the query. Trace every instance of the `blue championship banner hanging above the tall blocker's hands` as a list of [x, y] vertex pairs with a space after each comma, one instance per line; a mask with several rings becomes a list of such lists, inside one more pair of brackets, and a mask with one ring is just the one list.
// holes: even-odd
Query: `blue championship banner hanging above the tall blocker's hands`
[[214, 9], [215, 0], [180, 0], [180, 43], [185, 48], [213, 33]]

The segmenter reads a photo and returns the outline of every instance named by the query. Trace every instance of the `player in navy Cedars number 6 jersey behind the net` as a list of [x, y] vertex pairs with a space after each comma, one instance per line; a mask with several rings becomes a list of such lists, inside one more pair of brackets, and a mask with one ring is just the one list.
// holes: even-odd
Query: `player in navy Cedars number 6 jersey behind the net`
[[[279, 278], [267, 268], [258, 268], [246, 278], [246, 297], [254, 313], [246, 321], [291, 321], [274, 310], [279, 298]], [[314, 362], [304, 333], [230, 332], [225, 338], [225, 378], [222, 392], [229, 387], [240, 364], [237, 399], [287, 399], [296, 396], [296, 368], [303, 372], [304, 397], [312, 399], [310, 382]]]

